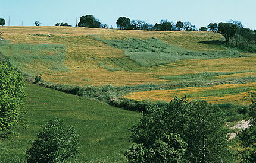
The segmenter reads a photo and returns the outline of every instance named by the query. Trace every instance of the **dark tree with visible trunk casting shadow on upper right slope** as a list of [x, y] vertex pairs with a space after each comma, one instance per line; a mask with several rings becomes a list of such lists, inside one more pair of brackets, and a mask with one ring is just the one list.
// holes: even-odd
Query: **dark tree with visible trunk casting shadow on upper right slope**
[[225, 37], [226, 44], [229, 43], [231, 37], [234, 37], [238, 25], [232, 23], [218, 23], [218, 32]]

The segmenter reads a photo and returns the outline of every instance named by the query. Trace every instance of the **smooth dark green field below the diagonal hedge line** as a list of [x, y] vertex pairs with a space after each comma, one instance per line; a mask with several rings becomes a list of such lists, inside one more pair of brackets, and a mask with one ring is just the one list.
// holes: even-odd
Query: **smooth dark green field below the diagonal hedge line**
[[[76, 95], [27, 84], [27, 129], [20, 127], [19, 136], [0, 141], [1, 162], [22, 162], [40, 126], [53, 117], [61, 117], [74, 126], [80, 137], [77, 161], [124, 161], [129, 146], [129, 127], [135, 125], [139, 113], [85, 100]], [[71, 161], [73, 162], [73, 161]]]

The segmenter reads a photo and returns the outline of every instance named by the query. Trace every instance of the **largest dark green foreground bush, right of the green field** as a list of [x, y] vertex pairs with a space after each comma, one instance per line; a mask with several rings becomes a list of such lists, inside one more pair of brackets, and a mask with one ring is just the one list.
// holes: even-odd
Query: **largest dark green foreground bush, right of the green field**
[[[139, 125], [131, 131], [132, 142], [143, 145], [146, 161], [225, 162], [229, 159], [220, 108], [205, 100], [189, 102], [176, 97], [167, 107], [149, 108], [148, 114], [143, 114]], [[126, 152], [127, 158], [129, 154], [134, 157], [136, 152], [132, 151], [136, 146]], [[154, 155], [147, 155], [147, 151], [154, 151]]]

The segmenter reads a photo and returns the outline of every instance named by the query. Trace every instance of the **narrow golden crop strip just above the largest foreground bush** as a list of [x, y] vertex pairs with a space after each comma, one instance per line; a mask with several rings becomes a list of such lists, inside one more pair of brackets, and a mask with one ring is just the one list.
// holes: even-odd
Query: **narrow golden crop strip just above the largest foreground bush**
[[[170, 101], [173, 100], [175, 96], [185, 96], [192, 99], [204, 99], [212, 103], [240, 103], [240, 104], [249, 104], [249, 92], [238, 92], [236, 94], [232, 92], [226, 92], [226, 90], [235, 90], [236, 88], [248, 88], [249, 92], [256, 92], [256, 83], [248, 84], [223, 84], [216, 85], [212, 87], [188, 87], [180, 88], [174, 90], [155, 90], [155, 91], [142, 91], [142, 92], [133, 92], [124, 96], [124, 98], [134, 99], [134, 100], [164, 100]], [[218, 91], [222, 90], [222, 93], [218, 94]], [[205, 96], [203, 93], [207, 91], [216, 91], [217, 95], [208, 95]], [[201, 94], [202, 93], [202, 94]]]

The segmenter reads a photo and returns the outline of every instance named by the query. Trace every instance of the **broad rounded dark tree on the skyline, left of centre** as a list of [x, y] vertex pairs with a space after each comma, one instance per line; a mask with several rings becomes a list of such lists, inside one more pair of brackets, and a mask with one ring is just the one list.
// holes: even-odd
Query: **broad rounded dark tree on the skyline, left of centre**
[[98, 19], [93, 17], [93, 15], [86, 15], [80, 17], [80, 21], [78, 23], [79, 27], [88, 27], [88, 28], [100, 28], [101, 23]]

